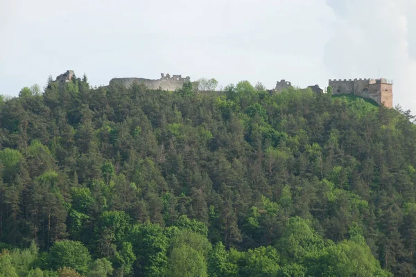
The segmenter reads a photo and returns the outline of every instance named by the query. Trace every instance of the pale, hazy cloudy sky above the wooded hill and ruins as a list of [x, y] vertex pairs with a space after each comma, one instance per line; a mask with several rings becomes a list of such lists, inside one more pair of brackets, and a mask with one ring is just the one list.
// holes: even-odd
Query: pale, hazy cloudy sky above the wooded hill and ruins
[[416, 113], [415, 0], [0, 0], [0, 93], [67, 69], [92, 85], [160, 73], [277, 80], [393, 79]]

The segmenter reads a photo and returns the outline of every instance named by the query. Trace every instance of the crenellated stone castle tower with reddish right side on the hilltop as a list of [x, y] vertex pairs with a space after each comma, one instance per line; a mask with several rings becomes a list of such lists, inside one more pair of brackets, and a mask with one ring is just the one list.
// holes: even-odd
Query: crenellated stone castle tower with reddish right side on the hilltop
[[381, 79], [329, 80], [332, 94], [354, 94], [393, 107], [393, 82]]

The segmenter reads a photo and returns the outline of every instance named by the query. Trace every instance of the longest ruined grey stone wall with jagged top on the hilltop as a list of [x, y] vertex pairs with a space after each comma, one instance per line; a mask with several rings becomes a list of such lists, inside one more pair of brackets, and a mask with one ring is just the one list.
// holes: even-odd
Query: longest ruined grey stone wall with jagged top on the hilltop
[[[182, 85], [185, 82], [189, 82], [191, 78], [182, 78], [181, 75], [171, 75], [164, 73], [161, 74], [161, 78], [157, 80], [145, 79], [145, 78], [114, 78], [110, 80], [110, 84], [123, 84], [124, 87], [130, 87], [134, 82], [138, 84], [144, 84], [149, 89], [159, 89], [159, 87], [165, 91], [175, 91], [176, 89], [182, 89]], [[198, 84], [193, 82], [193, 89], [198, 89]]]

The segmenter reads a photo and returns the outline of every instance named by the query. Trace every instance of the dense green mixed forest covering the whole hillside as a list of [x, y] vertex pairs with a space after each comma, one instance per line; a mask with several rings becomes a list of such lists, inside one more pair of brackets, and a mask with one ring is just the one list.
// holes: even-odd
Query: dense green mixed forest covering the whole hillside
[[243, 81], [0, 101], [0, 276], [414, 276], [410, 111]]

